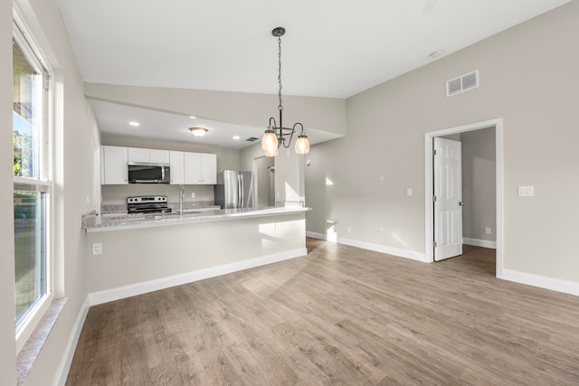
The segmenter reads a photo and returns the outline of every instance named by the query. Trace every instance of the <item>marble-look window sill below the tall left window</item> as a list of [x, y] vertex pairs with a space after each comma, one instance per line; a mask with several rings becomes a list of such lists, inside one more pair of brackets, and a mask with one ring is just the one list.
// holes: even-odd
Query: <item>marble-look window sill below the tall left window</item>
[[43, 344], [51, 334], [52, 327], [56, 319], [61, 315], [62, 308], [66, 304], [67, 297], [52, 300], [48, 310], [43, 315], [40, 323], [34, 328], [33, 334], [30, 335], [16, 358], [16, 368], [18, 371], [18, 385], [24, 384], [26, 377], [32, 369], [34, 361], [43, 348]]

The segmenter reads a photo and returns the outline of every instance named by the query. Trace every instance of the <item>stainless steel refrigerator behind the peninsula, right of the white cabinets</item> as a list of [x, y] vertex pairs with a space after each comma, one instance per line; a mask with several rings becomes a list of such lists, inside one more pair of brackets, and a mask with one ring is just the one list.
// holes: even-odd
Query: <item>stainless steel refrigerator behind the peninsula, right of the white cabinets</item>
[[224, 170], [217, 174], [215, 205], [222, 209], [253, 207], [253, 172]]

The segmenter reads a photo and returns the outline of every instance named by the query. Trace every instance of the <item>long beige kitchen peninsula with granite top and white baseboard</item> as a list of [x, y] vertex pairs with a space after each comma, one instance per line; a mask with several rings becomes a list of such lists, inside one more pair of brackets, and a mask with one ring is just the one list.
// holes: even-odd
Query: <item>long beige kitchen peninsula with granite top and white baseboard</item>
[[288, 206], [85, 216], [90, 303], [304, 256], [308, 210]]

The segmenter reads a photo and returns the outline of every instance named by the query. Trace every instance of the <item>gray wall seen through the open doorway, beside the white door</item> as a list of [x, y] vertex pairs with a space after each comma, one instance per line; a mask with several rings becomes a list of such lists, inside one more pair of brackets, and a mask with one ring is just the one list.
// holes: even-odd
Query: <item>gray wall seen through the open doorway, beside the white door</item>
[[[474, 240], [496, 239], [495, 129], [460, 135], [462, 142], [462, 236]], [[491, 234], [485, 228], [491, 228]], [[468, 242], [467, 242], [468, 243]]]

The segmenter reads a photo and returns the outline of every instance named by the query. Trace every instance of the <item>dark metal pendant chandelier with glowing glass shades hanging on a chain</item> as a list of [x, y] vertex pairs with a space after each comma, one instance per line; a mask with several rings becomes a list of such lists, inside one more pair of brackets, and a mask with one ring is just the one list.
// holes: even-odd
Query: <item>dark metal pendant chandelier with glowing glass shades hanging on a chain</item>
[[281, 118], [283, 113], [283, 106], [281, 105], [281, 36], [283, 36], [284, 33], [286, 33], [286, 30], [282, 27], [274, 28], [273, 31], [271, 31], [271, 34], [278, 38], [278, 84], [280, 85], [280, 88], [278, 89], [278, 98], [280, 99], [278, 111], [280, 112], [280, 126], [278, 126], [275, 118], [270, 118], [268, 129], [265, 130], [265, 133], [261, 138], [261, 148], [266, 156], [278, 155], [278, 148], [282, 145], [283, 147], [289, 148], [291, 145], [291, 139], [296, 133], [296, 127], [300, 128], [298, 139], [296, 140], [296, 145], [294, 147], [296, 154], [304, 155], [309, 153], [309, 141], [308, 136], [304, 133], [304, 126], [301, 123], [296, 123], [292, 128], [283, 127], [283, 121]]

